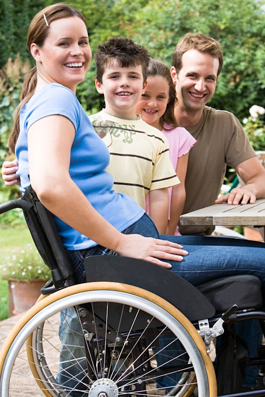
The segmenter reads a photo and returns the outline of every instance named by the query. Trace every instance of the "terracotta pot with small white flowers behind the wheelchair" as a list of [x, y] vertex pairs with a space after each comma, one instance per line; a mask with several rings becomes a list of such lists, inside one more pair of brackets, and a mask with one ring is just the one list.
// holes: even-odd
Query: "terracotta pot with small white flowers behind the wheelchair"
[[51, 277], [50, 269], [31, 243], [23, 249], [12, 250], [0, 263], [0, 269], [3, 279], [9, 283], [9, 308], [12, 314], [30, 309], [40, 295], [40, 288]]

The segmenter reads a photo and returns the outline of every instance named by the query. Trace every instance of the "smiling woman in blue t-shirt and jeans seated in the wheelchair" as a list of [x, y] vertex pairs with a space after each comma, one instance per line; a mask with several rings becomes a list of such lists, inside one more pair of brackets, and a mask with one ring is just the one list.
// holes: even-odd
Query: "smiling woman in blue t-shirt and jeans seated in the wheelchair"
[[[159, 236], [144, 210], [130, 197], [113, 190], [113, 179], [105, 171], [108, 149], [75, 95], [92, 59], [84, 17], [64, 4], [48, 6], [33, 18], [27, 47], [36, 64], [23, 85], [10, 148], [19, 162], [22, 192], [31, 185], [39, 201], [54, 214], [77, 283], [86, 282], [85, 258], [118, 255], [170, 269], [194, 286], [224, 276], [247, 274], [257, 276], [264, 289], [263, 243], [199, 236], [195, 242], [194, 236]], [[141, 96], [144, 77], [140, 80], [137, 94]], [[117, 96], [114, 93], [113, 101], [119, 101]], [[60, 311], [63, 351], [73, 344], [67, 333], [69, 322], [64, 321], [64, 313], [68, 311], [69, 318], [71, 315], [70, 309]], [[156, 346], [153, 348], [155, 351]], [[69, 348], [66, 350], [69, 352]], [[64, 354], [67, 363], [69, 357]], [[158, 366], [160, 359], [157, 355]], [[59, 384], [80, 382], [71, 370], [68, 383], [63, 380], [67, 368], [65, 364], [59, 371]], [[95, 390], [99, 395], [98, 385], [93, 387], [91, 394]], [[123, 393], [128, 393], [126, 390]], [[111, 395], [104, 390], [100, 394]], [[86, 394], [72, 391], [70, 395]], [[177, 395], [176, 391], [170, 395]]]

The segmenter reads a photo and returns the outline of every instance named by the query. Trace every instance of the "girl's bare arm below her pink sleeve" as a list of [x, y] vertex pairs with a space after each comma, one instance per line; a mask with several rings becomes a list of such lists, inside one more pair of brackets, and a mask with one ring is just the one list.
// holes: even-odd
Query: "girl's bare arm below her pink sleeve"
[[166, 234], [174, 235], [175, 229], [179, 224], [185, 200], [185, 177], [188, 166], [189, 153], [178, 159], [176, 166], [176, 175], [178, 175], [181, 183], [172, 187], [171, 203], [170, 203], [170, 220], [168, 220]]

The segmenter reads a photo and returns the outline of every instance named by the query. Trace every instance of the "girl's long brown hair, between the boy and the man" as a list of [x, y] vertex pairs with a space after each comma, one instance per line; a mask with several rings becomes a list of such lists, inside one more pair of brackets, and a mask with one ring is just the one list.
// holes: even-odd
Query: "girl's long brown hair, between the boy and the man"
[[[172, 128], [178, 127], [178, 122], [176, 121], [174, 116], [174, 106], [176, 105], [178, 100], [176, 98], [175, 86], [172, 82], [169, 68], [163, 62], [152, 59], [149, 62], [147, 68], [147, 81], [148, 76], [161, 76], [166, 79], [169, 88], [169, 102], [166, 106], [165, 113], [163, 114], [163, 116], [161, 116], [161, 123], [164, 129], [171, 130]], [[165, 128], [165, 123], [168, 124], [170, 128]]]

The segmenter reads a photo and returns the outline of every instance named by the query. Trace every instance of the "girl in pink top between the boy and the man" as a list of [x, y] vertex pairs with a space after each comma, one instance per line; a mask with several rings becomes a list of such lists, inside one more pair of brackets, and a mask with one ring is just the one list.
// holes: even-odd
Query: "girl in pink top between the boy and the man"
[[[182, 214], [186, 191], [185, 176], [188, 156], [196, 139], [174, 117], [175, 87], [168, 67], [161, 61], [151, 60], [148, 67], [147, 88], [137, 106], [142, 119], [158, 128], [169, 143], [169, 156], [181, 183], [169, 188], [169, 213], [166, 234], [180, 235], [178, 223]], [[149, 200], [146, 200], [149, 213]]]

